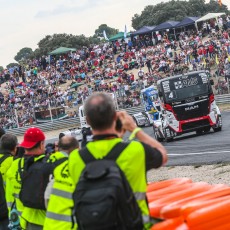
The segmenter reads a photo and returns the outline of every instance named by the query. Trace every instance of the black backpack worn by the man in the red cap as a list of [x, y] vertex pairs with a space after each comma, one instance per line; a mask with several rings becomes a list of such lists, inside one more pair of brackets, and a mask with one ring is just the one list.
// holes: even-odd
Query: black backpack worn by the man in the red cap
[[19, 173], [21, 177], [21, 190], [19, 198], [23, 205], [29, 208], [46, 210], [44, 193], [50, 180], [50, 175], [56, 166], [67, 160], [61, 158], [55, 162], [47, 162], [47, 157], [35, 161], [35, 157], [25, 158], [24, 168], [19, 161]]

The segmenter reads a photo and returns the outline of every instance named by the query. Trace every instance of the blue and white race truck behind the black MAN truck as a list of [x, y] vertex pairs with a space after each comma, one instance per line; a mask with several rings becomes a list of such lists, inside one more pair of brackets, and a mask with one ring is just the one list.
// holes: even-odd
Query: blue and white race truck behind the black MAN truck
[[145, 111], [133, 114], [137, 126], [150, 126], [157, 120], [161, 112], [158, 91], [156, 87], [150, 86], [141, 90], [141, 100]]

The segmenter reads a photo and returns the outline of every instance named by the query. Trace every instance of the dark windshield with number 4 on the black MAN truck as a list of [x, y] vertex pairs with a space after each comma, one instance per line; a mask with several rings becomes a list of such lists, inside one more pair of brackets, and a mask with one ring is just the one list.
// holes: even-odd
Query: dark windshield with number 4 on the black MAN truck
[[209, 93], [208, 77], [205, 73], [172, 78], [161, 84], [165, 100], [168, 103]]

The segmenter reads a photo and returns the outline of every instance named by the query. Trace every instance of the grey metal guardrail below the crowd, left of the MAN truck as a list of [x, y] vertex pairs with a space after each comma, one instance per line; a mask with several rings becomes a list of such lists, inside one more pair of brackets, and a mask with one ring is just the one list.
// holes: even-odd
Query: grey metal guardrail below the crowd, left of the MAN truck
[[[130, 115], [139, 113], [140, 111], [143, 111], [144, 108], [142, 106], [132, 107], [125, 109]], [[69, 129], [74, 127], [80, 126], [80, 119], [77, 118], [69, 118], [64, 120], [58, 120], [53, 122], [47, 122], [44, 124], [36, 124], [33, 125], [34, 127], [40, 128], [43, 132], [58, 130], [58, 129]], [[24, 132], [29, 128], [29, 126], [20, 127], [16, 129], [9, 129], [7, 130], [7, 133], [14, 134], [16, 136], [22, 136]]]

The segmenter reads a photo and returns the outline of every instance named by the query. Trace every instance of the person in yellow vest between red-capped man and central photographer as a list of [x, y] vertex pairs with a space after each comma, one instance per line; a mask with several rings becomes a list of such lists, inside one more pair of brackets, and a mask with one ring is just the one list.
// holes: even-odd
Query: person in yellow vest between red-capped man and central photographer
[[59, 152], [54, 155], [59, 159], [65, 159], [54, 170], [54, 179], [48, 184], [45, 192], [45, 202], [48, 203], [44, 230], [76, 229], [72, 228], [72, 195], [75, 189], [72, 178], [69, 176], [68, 156], [79, 149], [79, 143], [75, 137], [64, 136], [58, 142]]

